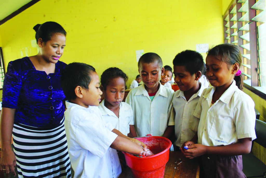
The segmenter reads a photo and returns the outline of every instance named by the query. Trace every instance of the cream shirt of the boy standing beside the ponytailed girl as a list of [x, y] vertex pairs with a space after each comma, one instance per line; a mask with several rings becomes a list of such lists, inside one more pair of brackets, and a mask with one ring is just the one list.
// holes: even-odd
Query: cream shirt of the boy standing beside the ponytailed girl
[[175, 145], [181, 147], [182, 144], [191, 140], [198, 131], [199, 119], [193, 116], [195, 108], [205, 87], [200, 83], [200, 89], [193, 94], [188, 101], [184, 92], [177, 90], [173, 96], [173, 108], [170, 117], [174, 117]]

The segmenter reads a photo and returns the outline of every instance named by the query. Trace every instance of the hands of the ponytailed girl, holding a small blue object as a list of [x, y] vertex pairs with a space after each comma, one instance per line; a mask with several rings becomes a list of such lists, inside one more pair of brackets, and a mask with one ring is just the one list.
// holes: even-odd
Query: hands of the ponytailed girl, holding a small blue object
[[207, 146], [202, 144], [192, 144], [186, 146], [188, 149], [180, 148], [181, 152], [189, 159], [196, 158], [201, 155], [205, 155], [207, 151]]

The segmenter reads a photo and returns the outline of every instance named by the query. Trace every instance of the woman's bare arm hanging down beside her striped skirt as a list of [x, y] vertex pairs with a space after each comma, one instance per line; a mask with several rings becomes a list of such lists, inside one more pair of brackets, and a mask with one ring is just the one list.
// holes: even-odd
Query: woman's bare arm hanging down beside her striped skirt
[[16, 157], [11, 148], [11, 137], [14, 125], [14, 116], [16, 109], [2, 108], [1, 112], [1, 163], [0, 170], [6, 169], [6, 173], [12, 172], [15, 176]]

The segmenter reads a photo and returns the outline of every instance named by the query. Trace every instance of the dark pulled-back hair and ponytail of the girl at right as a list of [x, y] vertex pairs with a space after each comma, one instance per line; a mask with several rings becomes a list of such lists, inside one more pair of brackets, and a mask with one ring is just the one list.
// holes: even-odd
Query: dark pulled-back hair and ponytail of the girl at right
[[[213, 47], [207, 52], [207, 56], [214, 56], [218, 59], [222, 58], [222, 61], [226, 62], [228, 65], [233, 65], [236, 62], [239, 64], [239, 66], [242, 64], [241, 53], [238, 46], [229, 43], [224, 43]], [[240, 90], [243, 90], [242, 76], [235, 76], [234, 80], [236, 82], [236, 86], [238, 86]]]

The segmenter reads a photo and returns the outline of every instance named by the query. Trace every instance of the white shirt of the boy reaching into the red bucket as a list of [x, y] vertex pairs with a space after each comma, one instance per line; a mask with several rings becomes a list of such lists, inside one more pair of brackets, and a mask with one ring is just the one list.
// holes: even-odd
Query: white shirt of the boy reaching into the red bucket
[[97, 106], [84, 108], [66, 101], [65, 132], [74, 177], [118, 177], [117, 151], [110, 148], [117, 135], [104, 124]]

